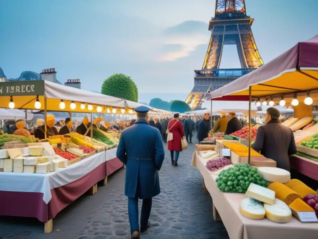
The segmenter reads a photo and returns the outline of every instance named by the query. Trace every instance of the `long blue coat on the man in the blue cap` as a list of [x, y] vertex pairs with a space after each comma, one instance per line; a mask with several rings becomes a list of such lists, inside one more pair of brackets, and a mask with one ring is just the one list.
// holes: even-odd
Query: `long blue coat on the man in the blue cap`
[[[144, 119], [123, 130], [116, 153], [126, 165], [125, 195], [152, 198], [160, 193], [159, 174], [164, 160], [160, 132]], [[136, 195], [139, 189], [139, 195]]]

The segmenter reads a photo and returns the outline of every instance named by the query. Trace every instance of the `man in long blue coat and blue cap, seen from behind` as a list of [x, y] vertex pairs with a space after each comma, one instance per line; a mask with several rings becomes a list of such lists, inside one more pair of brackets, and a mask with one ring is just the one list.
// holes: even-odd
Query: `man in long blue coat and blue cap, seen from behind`
[[126, 128], [120, 137], [116, 156], [126, 165], [125, 195], [128, 197], [128, 217], [131, 238], [140, 238], [138, 199], [142, 199], [140, 232], [150, 227], [152, 197], [160, 193], [159, 174], [164, 148], [159, 130], [147, 122], [150, 109], [135, 108], [137, 121]]

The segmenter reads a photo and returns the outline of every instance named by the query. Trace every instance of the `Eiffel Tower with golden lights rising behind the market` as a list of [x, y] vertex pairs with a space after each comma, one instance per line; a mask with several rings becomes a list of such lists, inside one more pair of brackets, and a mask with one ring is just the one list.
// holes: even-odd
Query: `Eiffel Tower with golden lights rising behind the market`
[[[194, 87], [186, 99], [191, 110], [200, 109], [211, 91], [236, 80], [264, 64], [246, 15], [245, 0], [216, 0], [209, 23], [210, 43], [201, 70], [194, 70]], [[224, 45], [236, 45], [241, 68], [219, 69]]]

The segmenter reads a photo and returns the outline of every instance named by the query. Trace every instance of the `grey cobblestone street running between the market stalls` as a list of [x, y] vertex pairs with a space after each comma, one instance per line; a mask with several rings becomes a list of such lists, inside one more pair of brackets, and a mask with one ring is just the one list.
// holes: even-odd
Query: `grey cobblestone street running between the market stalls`
[[[153, 199], [151, 227], [141, 238], [227, 239], [222, 222], [213, 221], [212, 201], [202, 190], [202, 176], [191, 166], [194, 144], [180, 153], [176, 168], [171, 166], [167, 144], [164, 146], [161, 194]], [[44, 224], [37, 219], [0, 216], [0, 239], [130, 238], [124, 179], [125, 169], [118, 170], [95, 195], [85, 194], [66, 207], [53, 219], [50, 234], [44, 234]]]

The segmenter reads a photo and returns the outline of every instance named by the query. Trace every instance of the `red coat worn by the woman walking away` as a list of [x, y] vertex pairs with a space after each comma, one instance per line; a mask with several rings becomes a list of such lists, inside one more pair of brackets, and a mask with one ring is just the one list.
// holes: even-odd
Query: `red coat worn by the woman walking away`
[[173, 140], [168, 141], [168, 150], [182, 151], [181, 138], [184, 137], [182, 122], [179, 120], [170, 120], [168, 123], [168, 129], [169, 129], [169, 133], [173, 134]]

